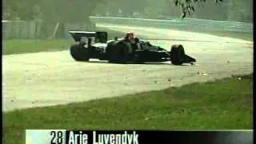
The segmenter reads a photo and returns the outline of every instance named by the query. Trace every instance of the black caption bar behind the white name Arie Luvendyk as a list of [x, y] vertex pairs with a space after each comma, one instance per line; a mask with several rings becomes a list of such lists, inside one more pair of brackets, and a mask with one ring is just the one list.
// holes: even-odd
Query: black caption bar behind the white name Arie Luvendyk
[[[87, 134], [88, 143], [98, 142], [99, 134], [138, 134], [138, 143], [178, 143], [178, 144], [253, 144], [253, 130], [71, 130], [73, 134]], [[95, 137], [94, 137], [95, 136]], [[66, 131], [66, 143], [69, 142], [70, 130]], [[96, 140], [95, 140], [96, 138]], [[136, 143], [136, 142], [135, 142]]]

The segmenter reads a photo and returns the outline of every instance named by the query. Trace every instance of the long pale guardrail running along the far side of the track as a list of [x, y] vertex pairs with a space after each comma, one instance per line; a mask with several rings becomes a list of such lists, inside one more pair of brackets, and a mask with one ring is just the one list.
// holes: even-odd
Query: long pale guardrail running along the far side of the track
[[226, 30], [237, 32], [253, 32], [253, 23], [250, 22], [230, 22], [214, 21], [197, 18], [174, 18], [166, 19], [146, 19], [146, 18], [119, 18], [119, 17], [95, 17], [91, 16], [90, 20], [97, 23], [110, 23], [128, 26], [149, 26], [172, 28], [177, 30]]

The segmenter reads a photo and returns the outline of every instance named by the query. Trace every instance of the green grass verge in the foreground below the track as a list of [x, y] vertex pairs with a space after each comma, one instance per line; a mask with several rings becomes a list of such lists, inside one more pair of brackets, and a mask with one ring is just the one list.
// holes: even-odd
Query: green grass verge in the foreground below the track
[[252, 129], [252, 74], [239, 78], [7, 112], [3, 114], [4, 139], [16, 144], [24, 140], [26, 129]]

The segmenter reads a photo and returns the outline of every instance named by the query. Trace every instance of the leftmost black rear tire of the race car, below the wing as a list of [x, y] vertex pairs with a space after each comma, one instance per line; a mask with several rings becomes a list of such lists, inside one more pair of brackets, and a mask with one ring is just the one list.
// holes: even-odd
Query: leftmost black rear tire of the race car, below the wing
[[82, 45], [74, 44], [70, 46], [70, 54], [76, 61], [89, 62], [88, 51]]

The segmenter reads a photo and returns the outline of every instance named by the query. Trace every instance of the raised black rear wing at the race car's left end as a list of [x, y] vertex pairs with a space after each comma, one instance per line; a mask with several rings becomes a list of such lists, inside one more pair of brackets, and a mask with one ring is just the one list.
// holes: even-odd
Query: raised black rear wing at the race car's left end
[[106, 43], [107, 32], [106, 31], [69, 31], [75, 42], [80, 42], [82, 38], [94, 38], [95, 42]]

